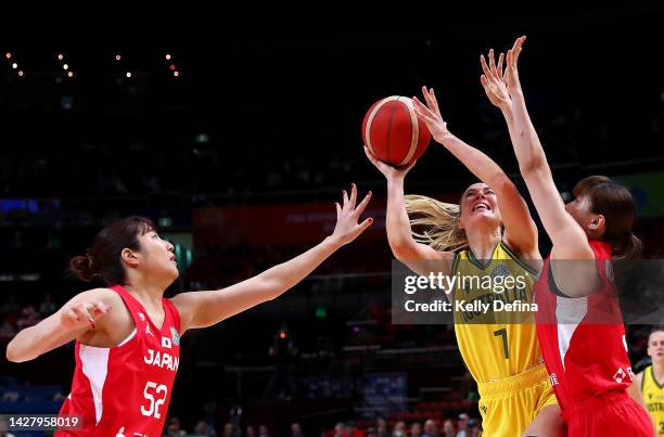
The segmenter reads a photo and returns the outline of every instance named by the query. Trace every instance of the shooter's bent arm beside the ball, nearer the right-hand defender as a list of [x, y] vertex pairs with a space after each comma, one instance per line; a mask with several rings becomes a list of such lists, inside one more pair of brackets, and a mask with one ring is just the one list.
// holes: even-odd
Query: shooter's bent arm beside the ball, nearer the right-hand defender
[[[502, 56], [498, 63], [502, 64]], [[418, 98], [412, 99], [418, 117], [426, 123], [437, 142], [451, 152], [481, 181], [496, 191], [505, 224], [503, 239], [508, 245], [516, 249], [524, 258], [538, 259], [540, 256], [537, 246], [537, 227], [514, 183], [494, 159], [461, 141], [447, 129], [447, 123], [443, 120], [433, 88], [427, 90], [426, 87], [422, 87], [422, 93], [426, 105], [422, 104]]]

